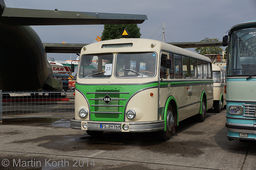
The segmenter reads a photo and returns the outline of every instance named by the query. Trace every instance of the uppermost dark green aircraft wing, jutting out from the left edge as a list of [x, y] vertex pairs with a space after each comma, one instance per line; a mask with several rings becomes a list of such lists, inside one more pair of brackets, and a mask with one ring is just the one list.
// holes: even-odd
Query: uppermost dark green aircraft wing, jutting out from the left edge
[[0, 6], [0, 20], [8, 25], [99, 25], [143, 23], [146, 15], [34, 10]]

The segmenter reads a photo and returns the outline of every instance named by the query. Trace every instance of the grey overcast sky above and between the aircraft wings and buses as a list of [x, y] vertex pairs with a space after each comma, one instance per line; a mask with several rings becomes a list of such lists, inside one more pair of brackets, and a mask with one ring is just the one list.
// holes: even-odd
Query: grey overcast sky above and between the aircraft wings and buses
[[[9, 8], [78, 12], [145, 14], [141, 38], [165, 42], [196, 42], [222, 37], [238, 23], [256, 20], [256, 0], [4, 0]], [[92, 43], [104, 25], [32, 26], [43, 43]], [[153, 36], [154, 35], [154, 36]], [[191, 49], [190, 49], [191, 50]], [[71, 59], [76, 59], [72, 54]], [[48, 54], [55, 60], [69, 60], [70, 54]]]

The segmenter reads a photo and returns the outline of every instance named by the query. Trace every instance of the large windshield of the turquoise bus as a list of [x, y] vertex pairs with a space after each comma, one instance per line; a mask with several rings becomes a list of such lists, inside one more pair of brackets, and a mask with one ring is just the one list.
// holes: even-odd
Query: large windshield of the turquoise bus
[[231, 33], [227, 75], [256, 74], [256, 28], [238, 29]]

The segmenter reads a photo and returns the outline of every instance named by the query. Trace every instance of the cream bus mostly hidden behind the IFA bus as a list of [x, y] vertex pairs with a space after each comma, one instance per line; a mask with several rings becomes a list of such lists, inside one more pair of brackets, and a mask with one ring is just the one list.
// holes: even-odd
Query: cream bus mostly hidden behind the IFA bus
[[226, 69], [212, 64], [213, 76], [213, 107], [216, 113], [220, 113], [222, 107], [226, 109]]

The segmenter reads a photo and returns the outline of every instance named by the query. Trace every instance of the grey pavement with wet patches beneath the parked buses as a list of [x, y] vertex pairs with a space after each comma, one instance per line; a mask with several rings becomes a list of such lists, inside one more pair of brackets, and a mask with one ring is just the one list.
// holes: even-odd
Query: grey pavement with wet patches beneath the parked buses
[[3, 119], [0, 169], [256, 169], [256, 142], [229, 141], [226, 110], [206, 120], [186, 119], [168, 141], [156, 133], [90, 137], [70, 128], [69, 118]]

